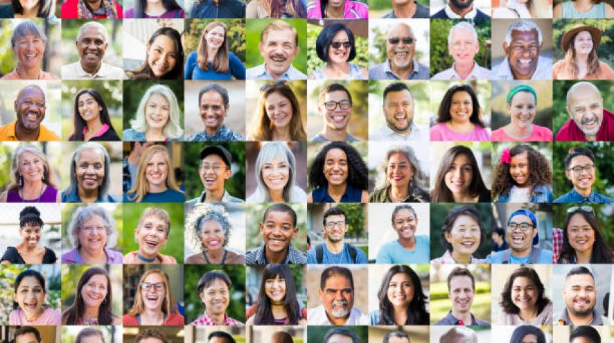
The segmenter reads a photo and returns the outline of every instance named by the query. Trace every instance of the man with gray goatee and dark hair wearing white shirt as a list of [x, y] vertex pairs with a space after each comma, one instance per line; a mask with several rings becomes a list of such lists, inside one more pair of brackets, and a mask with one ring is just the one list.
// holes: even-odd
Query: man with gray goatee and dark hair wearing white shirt
[[369, 317], [354, 308], [354, 279], [346, 267], [326, 268], [317, 296], [322, 304], [307, 310], [309, 325], [368, 325]]

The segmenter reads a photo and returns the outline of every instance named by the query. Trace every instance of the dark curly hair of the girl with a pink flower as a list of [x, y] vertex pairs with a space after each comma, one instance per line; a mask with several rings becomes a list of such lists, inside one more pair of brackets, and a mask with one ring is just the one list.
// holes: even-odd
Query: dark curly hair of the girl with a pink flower
[[[527, 144], [519, 144], [509, 150], [510, 158], [516, 155], [527, 153], [527, 159], [529, 160], [529, 180], [528, 183], [531, 188], [538, 184], [552, 184], [552, 170], [547, 159], [540, 152], [535, 150], [532, 146]], [[495, 179], [493, 181], [493, 195], [498, 197], [502, 194], [507, 194], [514, 186], [516, 182], [511, 178], [509, 173], [509, 164], [505, 162], [499, 162], [497, 169], [495, 170]]]

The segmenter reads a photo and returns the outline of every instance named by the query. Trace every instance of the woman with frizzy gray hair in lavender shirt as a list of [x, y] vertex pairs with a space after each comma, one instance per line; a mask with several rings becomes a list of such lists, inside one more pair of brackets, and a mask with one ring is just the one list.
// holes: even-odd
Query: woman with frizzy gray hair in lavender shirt
[[121, 252], [109, 249], [117, 243], [117, 229], [109, 213], [100, 206], [80, 206], [68, 227], [73, 249], [62, 254], [62, 263], [121, 264]]

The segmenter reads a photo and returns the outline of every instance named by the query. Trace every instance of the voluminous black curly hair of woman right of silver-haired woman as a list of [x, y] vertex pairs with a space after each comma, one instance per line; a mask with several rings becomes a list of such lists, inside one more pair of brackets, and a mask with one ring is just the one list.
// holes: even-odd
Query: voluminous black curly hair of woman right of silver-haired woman
[[328, 154], [328, 151], [335, 148], [343, 150], [347, 156], [347, 184], [354, 188], [367, 190], [369, 171], [367, 170], [365, 161], [360, 157], [356, 148], [342, 141], [328, 143], [317, 153], [313, 160], [313, 164], [311, 164], [311, 168], [309, 168], [309, 185], [315, 189], [328, 184], [328, 180], [324, 177], [322, 170], [324, 170], [326, 154]]

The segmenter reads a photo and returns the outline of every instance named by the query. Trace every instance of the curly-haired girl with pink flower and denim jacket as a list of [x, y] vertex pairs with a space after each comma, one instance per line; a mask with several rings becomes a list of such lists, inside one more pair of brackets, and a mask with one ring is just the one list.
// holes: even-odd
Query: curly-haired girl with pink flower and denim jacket
[[492, 192], [498, 202], [552, 202], [552, 170], [547, 159], [527, 144], [504, 150]]

